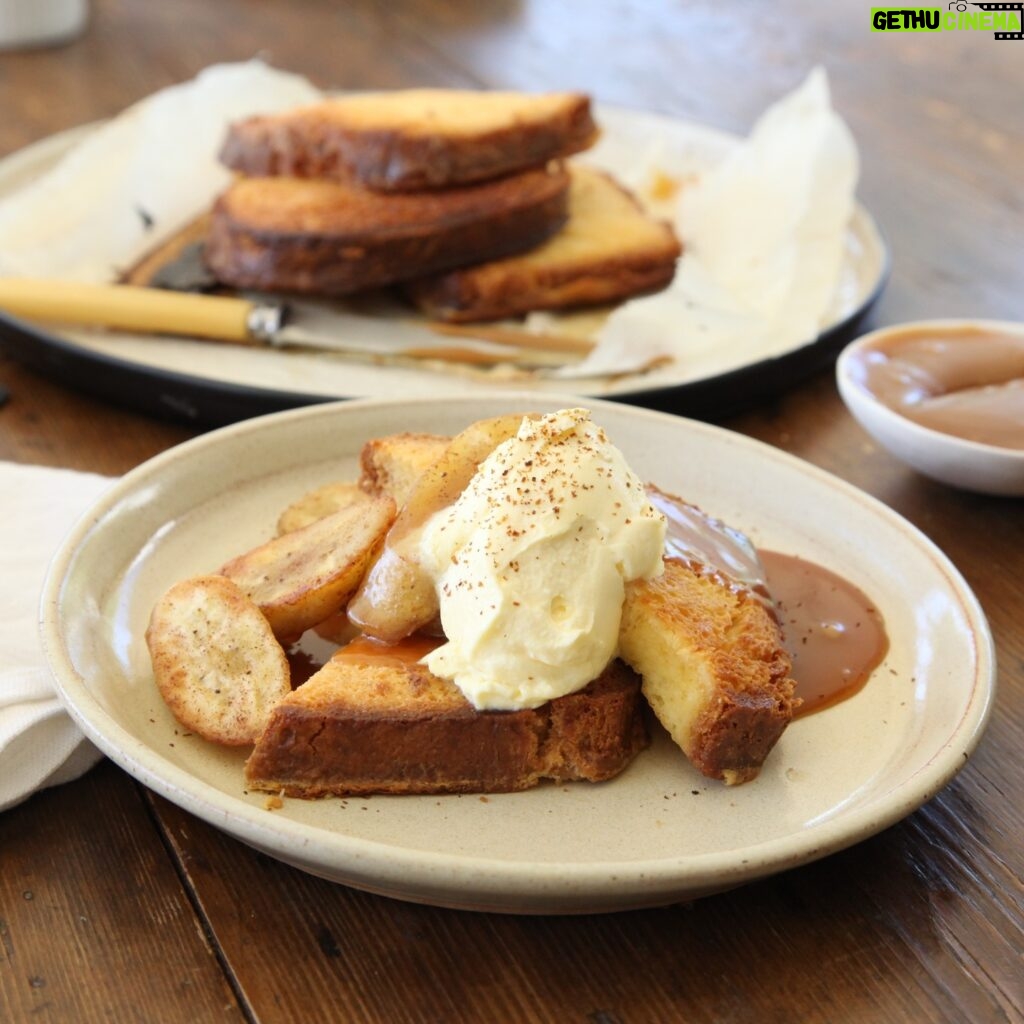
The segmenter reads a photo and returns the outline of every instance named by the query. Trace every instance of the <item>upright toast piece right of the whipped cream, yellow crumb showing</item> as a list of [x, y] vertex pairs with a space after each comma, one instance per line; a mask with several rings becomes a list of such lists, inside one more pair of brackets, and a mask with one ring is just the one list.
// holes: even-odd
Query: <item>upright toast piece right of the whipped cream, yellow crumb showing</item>
[[774, 615], [751, 591], [697, 562], [627, 586], [620, 656], [643, 678], [660, 723], [705, 774], [757, 776], [796, 706]]

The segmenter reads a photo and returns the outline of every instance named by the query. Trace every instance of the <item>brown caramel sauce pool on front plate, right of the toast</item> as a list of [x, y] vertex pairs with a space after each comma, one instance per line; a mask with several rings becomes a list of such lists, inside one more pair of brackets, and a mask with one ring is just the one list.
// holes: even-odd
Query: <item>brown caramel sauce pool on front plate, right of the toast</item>
[[797, 718], [853, 696], [889, 650], [879, 610], [821, 565], [775, 551], [760, 555], [803, 700]]

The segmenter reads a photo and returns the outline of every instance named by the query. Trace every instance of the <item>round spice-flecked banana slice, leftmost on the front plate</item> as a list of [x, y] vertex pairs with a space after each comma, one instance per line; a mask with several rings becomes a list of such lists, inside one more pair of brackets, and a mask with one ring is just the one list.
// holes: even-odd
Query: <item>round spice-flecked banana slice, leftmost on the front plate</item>
[[186, 728], [215, 743], [252, 743], [291, 692], [285, 651], [266, 618], [223, 577], [175, 584], [145, 632], [161, 696]]

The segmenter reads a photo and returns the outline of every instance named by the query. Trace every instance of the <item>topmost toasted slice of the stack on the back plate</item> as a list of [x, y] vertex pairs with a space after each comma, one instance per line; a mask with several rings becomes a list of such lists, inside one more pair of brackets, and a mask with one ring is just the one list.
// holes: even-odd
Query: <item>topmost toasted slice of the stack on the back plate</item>
[[596, 138], [580, 93], [407, 89], [249, 118], [231, 126], [220, 159], [249, 175], [417, 191], [537, 167]]

